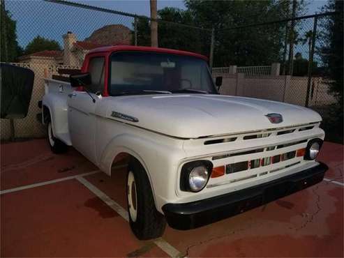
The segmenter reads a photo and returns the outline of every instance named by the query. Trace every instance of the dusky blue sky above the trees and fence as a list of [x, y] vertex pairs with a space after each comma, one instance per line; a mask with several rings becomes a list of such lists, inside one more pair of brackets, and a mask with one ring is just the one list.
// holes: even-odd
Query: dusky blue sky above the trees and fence
[[[306, 0], [308, 10], [306, 14], [320, 12], [320, 8], [327, 1]], [[149, 16], [149, 0], [77, 0], [90, 6], [98, 6], [127, 13]], [[45, 1], [6, 0], [6, 9], [10, 10], [13, 19], [17, 21], [17, 37], [22, 47], [33, 38], [40, 35], [59, 41], [67, 31], [73, 31], [78, 40], [84, 40], [91, 33], [106, 24], [124, 24], [133, 29], [133, 18], [93, 10], [63, 6]], [[165, 7], [185, 9], [184, 1], [158, 0], [158, 10]]]

